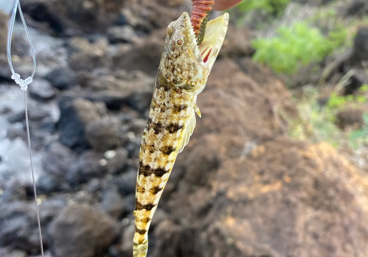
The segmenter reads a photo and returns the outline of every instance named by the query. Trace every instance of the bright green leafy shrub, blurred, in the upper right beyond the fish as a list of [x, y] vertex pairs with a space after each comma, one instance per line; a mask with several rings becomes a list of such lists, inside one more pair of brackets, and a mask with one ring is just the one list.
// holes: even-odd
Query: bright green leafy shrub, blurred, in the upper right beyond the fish
[[279, 36], [259, 38], [252, 42], [253, 60], [266, 64], [277, 73], [294, 74], [299, 65], [322, 61], [344, 43], [346, 31], [331, 31], [326, 37], [307, 22], [296, 22], [288, 28], [280, 26]]

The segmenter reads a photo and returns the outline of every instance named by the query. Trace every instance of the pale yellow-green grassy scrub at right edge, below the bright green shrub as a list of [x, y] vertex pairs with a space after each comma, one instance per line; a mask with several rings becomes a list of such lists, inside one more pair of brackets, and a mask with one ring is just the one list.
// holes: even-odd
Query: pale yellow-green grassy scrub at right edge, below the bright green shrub
[[[368, 85], [362, 85], [359, 90], [366, 94]], [[309, 140], [314, 143], [325, 141], [335, 147], [339, 147], [341, 142], [346, 142], [353, 151], [367, 143], [367, 114], [363, 114], [364, 125], [361, 129], [342, 132], [335, 124], [338, 111], [344, 110], [346, 106], [354, 107], [354, 105], [366, 103], [367, 96], [338, 96], [332, 93], [326, 105], [321, 107], [317, 103], [318, 91], [315, 88], [305, 87], [303, 95], [303, 99], [297, 101], [299, 118], [290, 122], [289, 136], [291, 138]]]

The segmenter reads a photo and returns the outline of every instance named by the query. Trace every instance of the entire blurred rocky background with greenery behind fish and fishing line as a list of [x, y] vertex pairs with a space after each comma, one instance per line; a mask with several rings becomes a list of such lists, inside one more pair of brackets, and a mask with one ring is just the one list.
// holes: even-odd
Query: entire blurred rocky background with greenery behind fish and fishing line
[[[0, 257], [39, 257], [24, 96], [0, 8]], [[21, 0], [47, 257], [131, 257], [139, 144], [184, 0]], [[148, 257], [367, 257], [368, 2], [245, 0], [149, 232]], [[218, 15], [214, 12], [212, 15]], [[33, 64], [21, 21], [12, 60]]]

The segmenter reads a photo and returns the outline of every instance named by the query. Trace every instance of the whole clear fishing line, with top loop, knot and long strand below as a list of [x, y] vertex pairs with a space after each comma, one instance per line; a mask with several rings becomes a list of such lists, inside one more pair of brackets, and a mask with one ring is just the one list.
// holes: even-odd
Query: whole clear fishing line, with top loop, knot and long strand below
[[[32, 51], [32, 57], [33, 57], [33, 71], [32, 75], [29, 76], [26, 79], [21, 79], [21, 76], [18, 73], [15, 73], [13, 64], [11, 63], [11, 54], [10, 54], [10, 46], [11, 46], [11, 36], [13, 35], [13, 28], [14, 28], [14, 22], [15, 22], [15, 15], [17, 14], [17, 9], [19, 10], [19, 14], [22, 19], [23, 26], [25, 28], [25, 31], [28, 36], [29, 44], [31, 45], [31, 51]], [[8, 28], [8, 37], [7, 37], [7, 45], [6, 45], [6, 51], [8, 55], [8, 63], [11, 69], [11, 78], [14, 79], [15, 83], [20, 85], [21, 89], [24, 92], [24, 106], [25, 106], [25, 121], [26, 121], [26, 127], [27, 127], [27, 139], [28, 139], [28, 150], [29, 150], [29, 160], [31, 162], [31, 170], [32, 170], [32, 179], [33, 179], [33, 191], [35, 193], [35, 204], [36, 204], [36, 210], [37, 210], [37, 221], [38, 221], [38, 231], [40, 234], [40, 246], [41, 246], [41, 254], [42, 257], [44, 257], [43, 254], [43, 244], [42, 244], [42, 233], [41, 233], [41, 222], [40, 222], [40, 213], [38, 210], [38, 203], [37, 203], [37, 192], [36, 192], [36, 182], [35, 182], [35, 172], [33, 171], [33, 164], [32, 164], [32, 153], [31, 153], [31, 139], [29, 137], [29, 123], [28, 123], [28, 110], [27, 110], [27, 97], [26, 97], [26, 90], [28, 88], [28, 85], [33, 81], [33, 76], [35, 75], [36, 71], [36, 55], [35, 50], [33, 49], [33, 44], [31, 40], [31, 36], [29, 35], [29, 31], [27, 28], [27, 25], [25, 24], [25, 20], [23, 17], [21, 4], [19, 0], [15, 0], [14, 2], [14, 8], [13, 13], [11, 14], [10, 21], [9, 21], [9, 28]]]

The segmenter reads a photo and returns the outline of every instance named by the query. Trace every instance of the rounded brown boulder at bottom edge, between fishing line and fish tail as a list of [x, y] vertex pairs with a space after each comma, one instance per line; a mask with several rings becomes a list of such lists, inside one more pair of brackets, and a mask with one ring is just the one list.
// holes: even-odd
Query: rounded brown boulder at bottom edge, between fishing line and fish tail
[[56, 257], [98, 257], [118, 238], [119, 224], [91, 206], [64, 208], [49, 226], [52, 253]]

